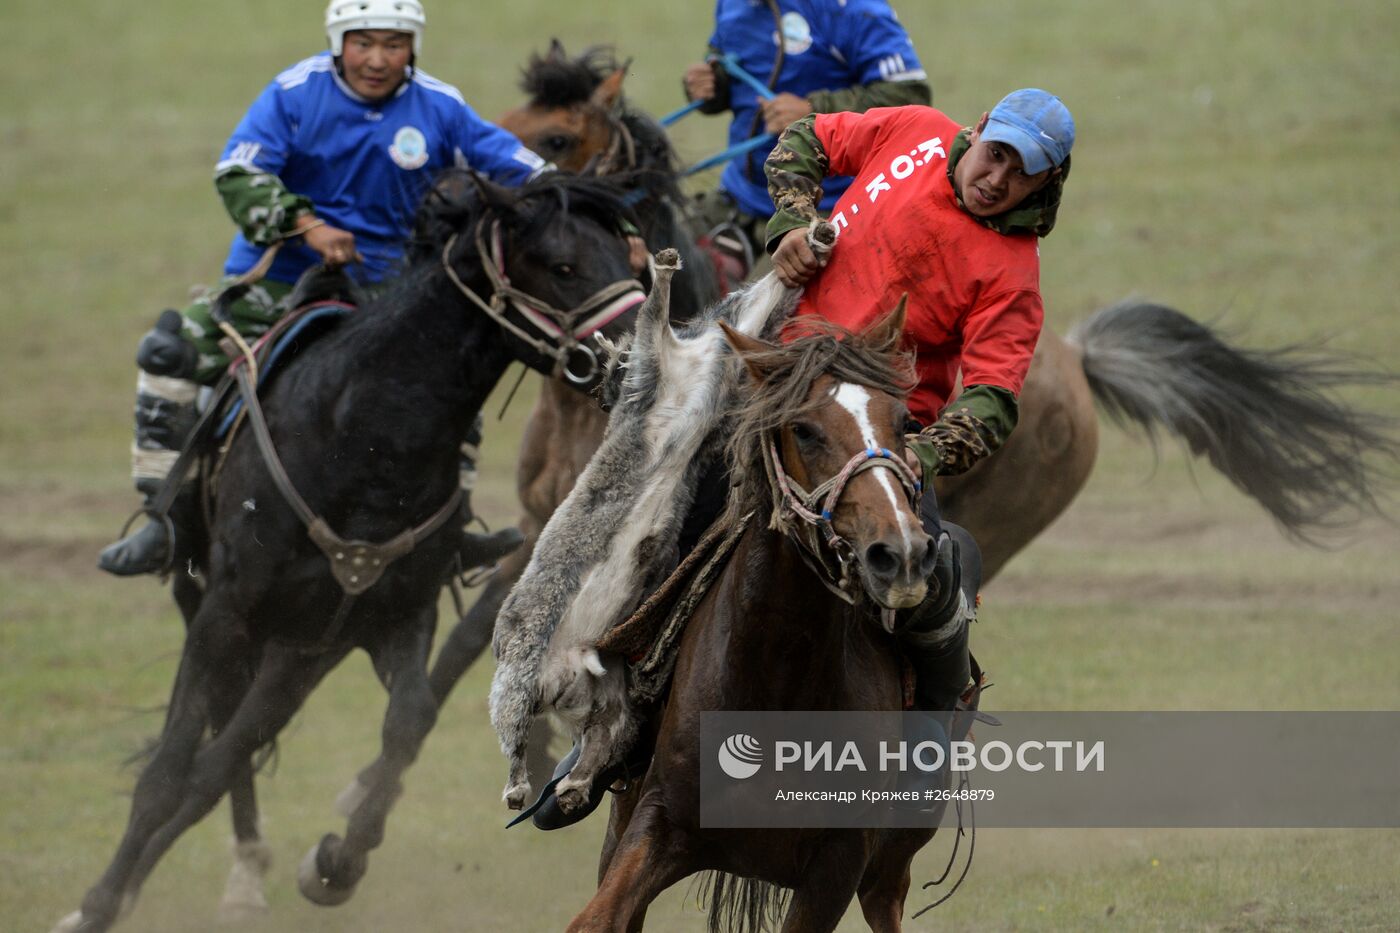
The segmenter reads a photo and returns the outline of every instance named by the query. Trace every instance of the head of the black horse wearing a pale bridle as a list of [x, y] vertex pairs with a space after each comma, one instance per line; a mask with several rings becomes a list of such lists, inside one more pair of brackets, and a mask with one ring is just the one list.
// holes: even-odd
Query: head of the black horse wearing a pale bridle
[[623, 220], [623, 192], [606, 181], [552, 172], [501, 188], [451, 172], [419, 213], [410, 261], [435, 256], [526, 366], [591, 388], [603, 339], [629, 333], [645, 300]]

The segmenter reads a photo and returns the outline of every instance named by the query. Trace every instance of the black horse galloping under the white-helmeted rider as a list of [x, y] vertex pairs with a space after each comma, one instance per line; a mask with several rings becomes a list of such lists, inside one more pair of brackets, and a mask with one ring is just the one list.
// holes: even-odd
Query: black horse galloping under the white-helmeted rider
[[[253, 433], [235, 437], [199, 556], [207, 586], [182, 602], [193, 615], [164, 728], [112, 863], [60, 930], [108, 929], [225, 792], [242, 787], [251, 804], [251, 756], [356, 647], [389, 691], [382, 768], [346, 836], [328, 835], [308, 855], [302, 892], [319, 904], [347, 899], [382, 841], [399, 776], [437, 719], [427, 657], [462, 541], [459, 521], [440, 520], [456, 514], [458, 448], [511, 361], [546, 373], [556, 363], [515, 304], [500, 303], [494, 317], [482, 304], [500, 272], [536, 311], [596, 311], [592, 298], [631, 279], [617, 235], [620, 191], [598, 181], [556, 175], [500, 189], [458, 178], [440, 182], [424, 212], [423, 240], [398, 284], [302, 350], [265, 395], [290, 486], [325, 524], [321, 544]], [[480, 255], [489, 242], [500, 244], [498, 256]], [[634, 317], [633, 308], [609, 329], [629, 331]], [[414, 527], [420, 539], [406, 548], [358, 546]], [[244, 829], [256, 832], [256, 820]]]

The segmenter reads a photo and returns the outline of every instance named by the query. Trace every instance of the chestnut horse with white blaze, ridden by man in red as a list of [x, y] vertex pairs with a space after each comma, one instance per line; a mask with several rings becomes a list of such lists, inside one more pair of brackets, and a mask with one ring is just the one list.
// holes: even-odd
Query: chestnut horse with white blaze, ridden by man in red
[[[640, 929], [652, 898], [707, 870], [743, 878], [715, 884], [713, 925], [774, 913], [790, 898], [784, 930], [830, 930], [858, 897], [871, 929], [900, 929], [910, 862], [932, 829], [701, 828], [699, 734], [700, 713], [710, 710], [902, 709], [899, 650], [881, 609], [923, 598], [918, 567], [931, 546], [913, 495], [892, 492], [914, 492], [899, 459], [910, 377], [907, 359], [893, 353], [902, 326], [896, 311], [860, 336], [818, 333], [784, 347], [727, 329], [750, 391], [729, 443], [731, 468], [743, 479], [724, 520], [760, 517], [743, 528], [682, 636], [655, 758], [615, 803], [598, 892], [570, 930]], [[895, 478], [879, 468], [848, 472], [868, 448], [893, 451], [874, 462]], [[804, 539], [784, 531], [795, 521], [773, 479], [784, 474], [805, 489], [851, 475], [832, 525], [860, 565], [855, 605], [833, 594], [836, 584], [804, 556]], [[879, 563], [909, 572], [867, 567], [864, 556], [876, 552], [890, 558]]]

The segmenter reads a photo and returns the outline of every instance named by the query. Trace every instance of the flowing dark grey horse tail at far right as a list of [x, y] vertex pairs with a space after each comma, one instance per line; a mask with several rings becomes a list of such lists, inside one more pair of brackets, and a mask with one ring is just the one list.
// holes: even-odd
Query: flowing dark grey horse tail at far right
[[1344, 387], [1393, 385], [1394, 374], [1316, 346], [1246, 350], [1159, 304], [1121, 301], [1081, 322], [1089, 388], [1120, 427], [1154, 450], [1158, 430], [1205, 455], [1289, 537], [1313, 541], [1380, 513], [1369, 461], [1400, 455], [1396, 420], [1348, 408]]

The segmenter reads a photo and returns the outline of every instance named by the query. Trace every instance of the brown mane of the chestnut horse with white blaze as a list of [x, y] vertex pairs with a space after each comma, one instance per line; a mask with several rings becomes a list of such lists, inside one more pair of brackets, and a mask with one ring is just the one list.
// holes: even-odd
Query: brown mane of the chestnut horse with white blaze
[[763, 373], [739, 388], [732, 412], [725, 457], [731, 474], [739, 481], [729, 499], [731, 518], [752, 509], [771, 507], [763, 464], [769, 440], [783, 424], [815, 410], [822, 402], [809, 399], [812, 385], [823, 375], [839, 382], [854, 382], [879, 392], [909, 394], [916, 382], [913, 353], [899, 349], [902, 335], [881, 342], [853, 333], [846, 328], [804, 315], [788, 324], [798, 336], [784, 345], [745, 353], [743, 360]]

